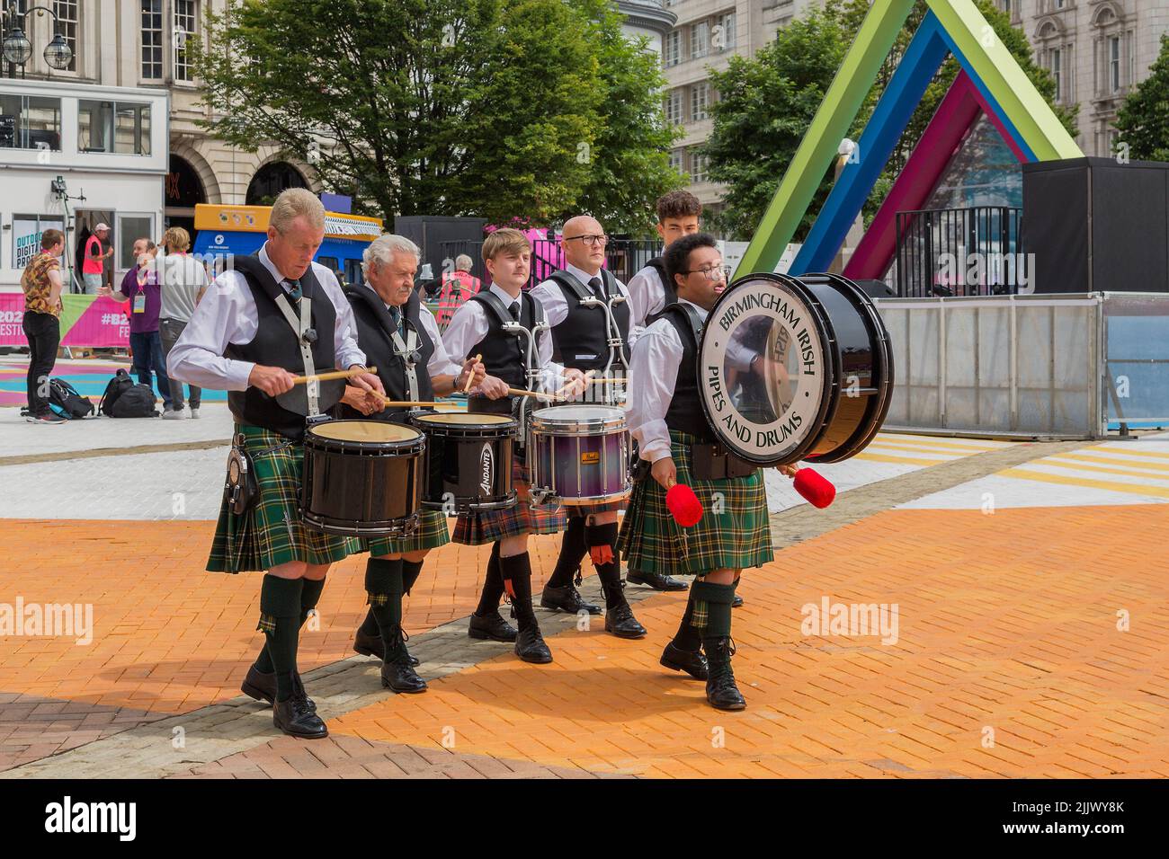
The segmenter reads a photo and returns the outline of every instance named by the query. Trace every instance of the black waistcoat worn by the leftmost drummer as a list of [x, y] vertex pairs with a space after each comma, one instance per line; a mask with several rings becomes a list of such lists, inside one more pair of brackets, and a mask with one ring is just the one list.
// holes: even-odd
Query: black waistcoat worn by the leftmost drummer
[[[256, 304], [256, 316], [260, 325], [256, 335], [245, 344], [228, 344], [223, 355], [237, 361], [250, 361], [262, 363], [268, 367], [283, 367], [289, 373], [302, 375], [304, 373], [304, 361], [300, 359], [300, 346], [296, 332], [289, 326], [288, 319], [276, 306], [274, 298], [283, 288], [271, 279], [268, 270], [260, 262], [258, 255], [251, 257], [236, 258], [236, 271], [243, 275], [251, 290], [251, 298]], [[269, 283], [262, 278], [267, 276]], [[300, 292], [305, 298], [312, 300], [312, 327], [317, 332], [317, 341], [312, 345], [312, 361], [318, 370], [330, 370], [336, 367], [337, 359], [333, 353], [333, 332], [337, 327], [337, 309], [325, 293], [325, 288], [317, 282], [312, 265], [300, 278]], [[296, 306], [290, 300], [293, 313]], [[241, 423], [263, 427], [272, 432], [278, 432], [286, 438], [299, 441], [304, 436], [304, 416], [295, 411], [289, 411], [274, 397], [268, 396], [260, 388], [249, 387], [247, 390], [229, 390], [227, 394], [228, 408], [236, 421]], [[321, 408], [332, 403], [321, 403]]]

